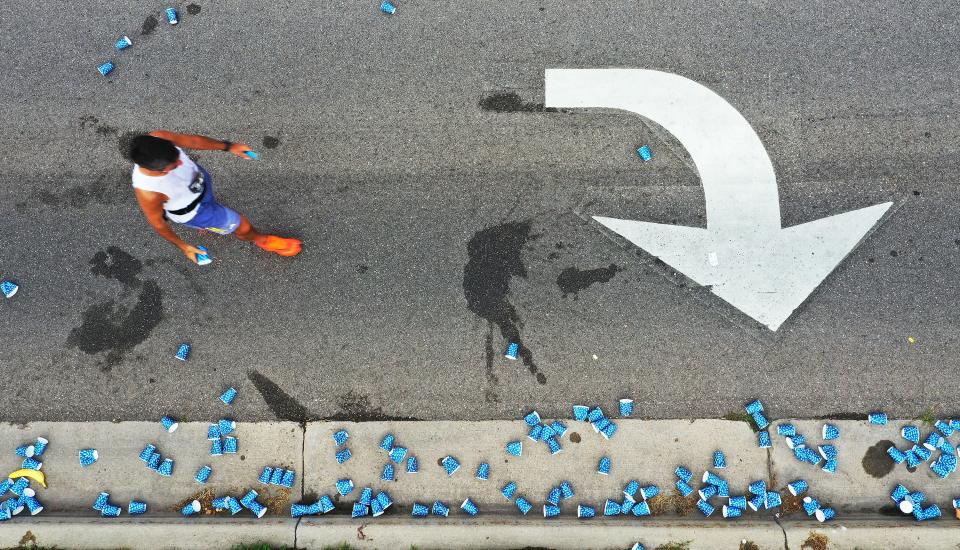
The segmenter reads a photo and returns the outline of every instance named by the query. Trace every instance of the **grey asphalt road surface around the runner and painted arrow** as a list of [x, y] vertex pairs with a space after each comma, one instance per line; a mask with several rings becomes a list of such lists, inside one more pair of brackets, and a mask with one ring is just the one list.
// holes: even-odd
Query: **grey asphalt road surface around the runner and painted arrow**
[[[0, 276], [21, 290], [0, 301], [3, 419], [200, 420], [231, 385], [242, 420], [549, 417], [624, 396], [648, 417], [754, 397], [773, 417], [960, 412], [951, 6], [377, 6], [198, 0], [176, 27], [163, 3], [5, 7]], [[706, 224], [662, 128], [542, 108], [545, 69], [601, 67], [676, 73], [735, 106], [785, 226], [894, 206], [770, 331], [589, 221]], [[215, 258], [198, 267], [153, 234], [120, 149], [160, 128], [257, 149], [195, 158], [303, 253], [181, 230]]]

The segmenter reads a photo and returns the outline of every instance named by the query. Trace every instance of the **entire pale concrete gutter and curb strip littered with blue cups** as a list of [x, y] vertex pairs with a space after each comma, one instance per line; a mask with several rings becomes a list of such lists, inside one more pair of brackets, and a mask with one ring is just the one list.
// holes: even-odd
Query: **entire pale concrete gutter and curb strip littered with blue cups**
[[[37, 436], [50, 440], [43, 457], [48, 489], [38, 489], [46, 510], [39, 516], [18, 516], [0, 523], [0, 548], [37, 544], [59, 548], [230, 548], [238, 543], [267, 542], [275, 546], [322, 548], [348, 542], [357, 548], [629, 548], [642, 542], [648, 548], [669, 542], [691, 541], [690, 549], [732, 549], [743, 539], [757, 548], [821, 550], [816, 537], [828, 541], [827, 548], [956, 549], [960, 541], [953, 531], [957, 524], [950, 509], [952, 479], [941, 481], [921, 467], [908, 473], [904, 466], [889, 468], [877, 459], [876, 444], [890, 440], [901, 447], [898, 432], [901, 423], [878, 427], [866, 422], [839, 421], [843, 435], [836, 443], [840, 462], [837, 473], [827, 474], [801, 464], [788, 454], [782, 438], [774, 436], [774, 448], [759, 449], [755, 434], [744, 422], [726, 420], [637, 420], [617, 421], [620, 429], [607, 441], [586, 423], [564, 420], [569, 431], [563, 437], [563, 452], [550, 455], [543, 443], [526, 438], [522, 421], [489, 422], [312, 422], [240, 424], [236, 435], [240, 452], [222, 457], [209, 456], [206, 423], [188, 422], [173, 434], [153, 422], [32, 423], [0, 426], [0, 440], [10, 452], [0, 455], [0, 470], [19, 467], [12, 448]], [[820, 442], [821, 422], [796, 421], [794, 424], [814, 446]], [[353, 458], [345, 464], [334, 459], [335, 445], [330, 435], [347, 429], [347, 446]], [[775, 427], [771, 429], [775, 433]], [[924, 430], [925, 432], [928, 430]], [[379, 481], [388, 458], [378, 448], [386, 433], [396, 436], [396, 444], [409, 449], [420, 461], [421, 471], [406, 474], [398, 468], [397, 480]], [[924, 434], [925, 435], [925, 434]], [[956, 437], [954, 437], [956, 439]], [[521, 440], [521, 457], [509, 456], [504, 445]], [[579, 441], [579, 442], [574, 442]], [[165, 456], [176, 461], [174, 475], [162, 478], [148, 470], [137, 455], [152, 442]], [[885, 445], [885, 444], [884, 444]], [[98, 449], [100, 460], [81, 468], [77, 460], [80, 448]], [[879, 452], [885, 451], [881, 445]], [[782, 518], [772, 514], [747, 514], [743, 519], [726, 521], [702, 518], [690, 502], [673, 493], [673, 469], [684, 464], [694, 472], [711, 465], [712, 452], [723, 450], [729, 466], [722, 472], [730, 481], [733, 494], [743, 493], [755, 479], [764, 479], [781, 489], [798, 477], [806, 479], [812, 494], [824, 505], [837, 509], [834, 522], [821, 525], [806, 518], [795, 506]], [[438, 460], [450, 454], [462, 464], [448, 477]], [[596, 473], [601, 456], [613, 462], [611, 475]], [[882, 457], [881, 457], [882, 458]], [[491, 465], [491, 478], [480, 481], [474, 471], [480, 462]], [[204, 464], [213, 468], [210, 481], [201, 486], [193, 480]], [[293, 490], [267, 488], [257, 482], [265, 465], [280, 465], [297, 471]], [[336, 512], [323, 517], [294, 520], [289, 517], [291, 502], [313, 501], [321, 494], [335, 494], [336, 479], [349, 477], [357, 486], [338, 503]], [[634, 518], [596, 518], [578, 521], [571, 517], [579, 503], [602, 507], [606, 498], [621, 497], [623, 485], [630, 479], [643, 484], [655, 483], [663, 491], [653, 505], [656, 517], [641, 521]], [[562, 516], [544, 520], [540, 506], [550, 487], [569, 480], [576, 497], [562, 505]], [[534, 503], [530, 516], [522, 517], [516, 507], [501, 494], [507, 481], [515, 481], [518, 494]], [[937, 521], [915, 523], [912, 518], [880, 514], [892, 501], [887, 496], [896, 483], [910, 489], [922, 489], [944, 511]], [[359, 488], [385, 489], [395, 506], [380, 518], [352, 520], [350, 503]], [[270, 514], [261, 520], [242, 512], [234, 517], [214, 516], [209, 510], [213, 496], [242, 495], [255, 488], [270, 506]], [[130, 518], [102, 519], [90, 505], [97, 493], [106, 490], [111, 501], [124, 508], [132, 498], [145, 500], [150, 512]], [[304, 497], [306, 495], [306, 497]], [[470, 497], [481, 514], [470, 518], [458, 509]], [[179, 506], [199, 498], [204, 503], [200, 517], [182, 518]], [[622, 497], [621, 497], [622, 498]], [[410, 514], [413, 502], [443, 500], [451, 508], [446, 519], [417, 520]], [[679, 514], [678, 514], [679, 512]], [[686, 514], [686, 515], [683, 515]], [[535, 517], [536, 515], [536, 517]], [[946, 531], [950, 529], [951, 531]]]

